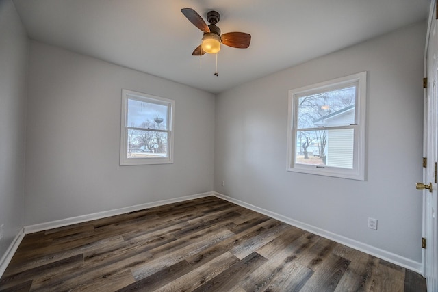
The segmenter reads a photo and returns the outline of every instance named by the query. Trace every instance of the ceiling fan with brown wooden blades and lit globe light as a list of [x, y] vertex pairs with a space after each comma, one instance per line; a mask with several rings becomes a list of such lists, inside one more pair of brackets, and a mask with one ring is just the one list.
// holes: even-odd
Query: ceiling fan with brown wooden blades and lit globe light
[[204, 55], [205, 53], [216, 54], [220, 51], [220, 44], [225, 44], [229, 47], [246, 49], [251, 42], [251, 35], [244, 32], [234, 31], [225, 34], [220, 34], [219, 27], [216, 23], [219, 22], [219, 12], [209, 11], [207, 13], [207, 21], [210, 25], [207, 25], [203, 18], [192, 8], [181, 9], [184, 16], [194, 24], [195, 27], [201, 29], [204, 32], [203, 42], [196, 49], [194, 49], [192, 55]]

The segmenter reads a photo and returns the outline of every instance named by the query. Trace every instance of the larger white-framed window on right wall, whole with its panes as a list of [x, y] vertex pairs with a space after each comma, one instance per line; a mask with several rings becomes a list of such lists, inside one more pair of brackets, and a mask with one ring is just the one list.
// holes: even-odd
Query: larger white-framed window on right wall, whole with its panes
[[289, 90], [287, 170], [365, 179], [366, 72]]

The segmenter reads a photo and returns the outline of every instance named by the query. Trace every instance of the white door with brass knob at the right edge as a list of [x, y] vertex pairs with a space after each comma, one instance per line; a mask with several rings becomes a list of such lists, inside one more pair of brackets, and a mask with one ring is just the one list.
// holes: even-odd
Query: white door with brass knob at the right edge
[[431, 1], [428, 39], [426, 41], [426, 75], [428, 84], [424, 94], [424, 183], [431, 186], [423, 191], [423, 250], [424, 276], [428, 291], [438, 292], [438, 224], [437, 224], [437, 162], [438, 162], [438, 21], [435, 17], [436, 1]]

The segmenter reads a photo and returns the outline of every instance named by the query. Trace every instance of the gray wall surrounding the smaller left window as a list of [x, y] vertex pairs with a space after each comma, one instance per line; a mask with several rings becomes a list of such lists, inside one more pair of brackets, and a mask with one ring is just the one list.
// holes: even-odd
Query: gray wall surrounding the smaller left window
[[[119, 165], [121, 90], [175, 100], [174, 163]], [[214, 95], [31, 42], [25, 225], [213, 189]]]

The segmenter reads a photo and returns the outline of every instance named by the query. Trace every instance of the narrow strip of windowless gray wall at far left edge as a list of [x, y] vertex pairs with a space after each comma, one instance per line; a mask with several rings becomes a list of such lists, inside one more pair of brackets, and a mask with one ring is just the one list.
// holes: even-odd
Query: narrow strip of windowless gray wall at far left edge
[[23, 228], [29, 40], [14, 4], [0, 1], [0, 258]]

